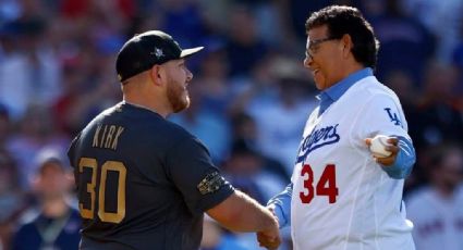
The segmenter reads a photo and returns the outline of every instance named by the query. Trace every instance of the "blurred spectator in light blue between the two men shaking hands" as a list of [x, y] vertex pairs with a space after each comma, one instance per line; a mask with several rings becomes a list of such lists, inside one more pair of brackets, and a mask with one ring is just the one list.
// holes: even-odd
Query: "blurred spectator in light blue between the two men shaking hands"
[[315, 98], [306, 97], [315, 95], [303, 79], [302, 63], [293, 59], [269, 57], [256, 71], [256, 85], [237, 100], [256, 121], [258, 149], [279, 160], [291, 174], [296, 157], [294, 150], [306, 123], [303, 114], [308, 115], [316, 104]]

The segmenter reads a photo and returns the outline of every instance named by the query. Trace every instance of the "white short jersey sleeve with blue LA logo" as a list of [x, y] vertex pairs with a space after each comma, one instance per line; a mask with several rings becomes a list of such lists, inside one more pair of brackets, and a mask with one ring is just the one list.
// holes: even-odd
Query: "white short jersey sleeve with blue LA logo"
[[365, 139], [376, 135], [401, 136], [410, 139], [407, 124], [399, 100], [393, 93], [376, 93], [363, 107], [353, 132]]

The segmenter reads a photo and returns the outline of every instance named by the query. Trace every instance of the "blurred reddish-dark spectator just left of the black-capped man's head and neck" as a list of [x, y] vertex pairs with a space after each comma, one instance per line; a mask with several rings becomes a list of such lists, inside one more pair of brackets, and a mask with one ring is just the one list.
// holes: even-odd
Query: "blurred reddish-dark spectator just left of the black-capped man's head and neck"
[[115, 52], [83, 48], [68, 62], [63, 71], [63, 95], [52, 107], [60, 132], [75, 135], [98, 112], [120, 100], [115, 72], [109, 63]]

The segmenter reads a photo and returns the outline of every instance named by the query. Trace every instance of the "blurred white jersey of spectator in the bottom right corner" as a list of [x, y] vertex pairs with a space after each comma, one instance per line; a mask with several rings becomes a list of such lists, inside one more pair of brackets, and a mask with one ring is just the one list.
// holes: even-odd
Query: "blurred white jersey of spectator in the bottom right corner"
[[406, 204], [417, 250], [463, 249], [463, 186], [449, 198], [426, 187], [412, 195]]

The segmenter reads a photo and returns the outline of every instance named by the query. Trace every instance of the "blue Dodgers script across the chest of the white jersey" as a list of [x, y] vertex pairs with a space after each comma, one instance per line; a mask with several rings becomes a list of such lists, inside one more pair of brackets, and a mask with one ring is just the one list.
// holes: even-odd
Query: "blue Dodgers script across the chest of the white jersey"
[[315, 149], [338, 142], [341, 138], [336, 130], [339, 124], [314, 129], [309, 136], [304, 138], [297, 153], [296, 163], [303, 162], [307, 154]]

